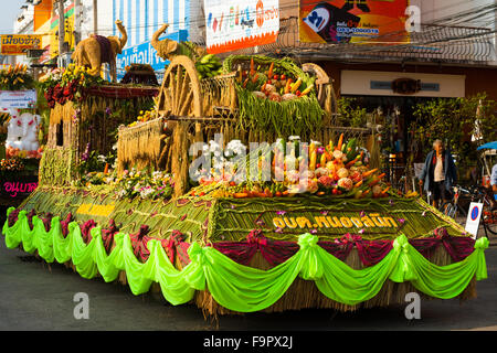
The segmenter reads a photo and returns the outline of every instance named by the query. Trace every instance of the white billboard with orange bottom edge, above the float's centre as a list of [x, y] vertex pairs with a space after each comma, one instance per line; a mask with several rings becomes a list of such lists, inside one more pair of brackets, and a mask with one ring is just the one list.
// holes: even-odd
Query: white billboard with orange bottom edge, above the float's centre
[[274, 43], [279, 32], [278, 0], [204, 0], [209, 53]]

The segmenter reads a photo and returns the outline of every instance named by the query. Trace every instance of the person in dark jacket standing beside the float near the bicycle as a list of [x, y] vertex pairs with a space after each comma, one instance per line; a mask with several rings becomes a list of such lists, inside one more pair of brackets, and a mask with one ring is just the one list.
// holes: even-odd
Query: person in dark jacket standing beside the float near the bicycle
[[451, 189], [457, 180], [457, 169], [450, 151], [445, 150], [441, 140], [433, 142], [433, 151], [426, 156], [421, 172], [420, 185], [430, 191], [433, 196], [433, 206], [438, 207], [440, 201], [451, 197]]

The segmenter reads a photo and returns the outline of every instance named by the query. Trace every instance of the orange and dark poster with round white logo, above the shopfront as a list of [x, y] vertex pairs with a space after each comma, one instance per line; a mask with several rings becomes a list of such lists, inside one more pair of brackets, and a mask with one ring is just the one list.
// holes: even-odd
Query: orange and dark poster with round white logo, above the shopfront
[[409, 0], [300, 0], [299, 39], [306, 43], [409, 43]]

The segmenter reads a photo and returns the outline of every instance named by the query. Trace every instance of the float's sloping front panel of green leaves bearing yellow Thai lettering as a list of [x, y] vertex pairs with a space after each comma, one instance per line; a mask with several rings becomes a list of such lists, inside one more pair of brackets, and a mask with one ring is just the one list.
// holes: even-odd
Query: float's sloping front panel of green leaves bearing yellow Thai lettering
[[213, 207], [213, 218], [209, 220], [211, 242], [244, 240], [252, 229], [262, 229], [268, 238], [290, 242], [309, 232], [320, 239], [334, 239], [347, 233], [360, 234], [366, 239], [393, 239], [400, 234], [417, 238], [433, 236], [438, 227], [446, 227], [454, 236], [464, 232], [415, 199], [220, 199]]

